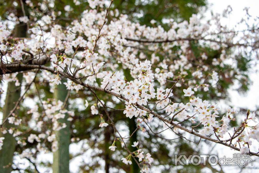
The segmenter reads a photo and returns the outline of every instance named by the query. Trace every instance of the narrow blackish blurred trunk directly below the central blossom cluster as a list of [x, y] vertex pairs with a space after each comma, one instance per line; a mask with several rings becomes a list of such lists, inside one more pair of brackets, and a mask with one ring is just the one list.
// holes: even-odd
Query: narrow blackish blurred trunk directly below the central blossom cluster
[[[132, 119], [129, 119], [129, 128], [130, 128], [130, 135], [134, 132], [134, 130], [137, 128], [136, 122], [135, 122], [135, 117], [133, 116]], [[137, 150], [136, 147], [132, 147], [131, 145], [133, 145], [133, 142], [138, 141], [137, 139], [137, 132], [135, 132], [132, 137], [130, 138], [130, 145], [129, 145], [129, 149], [131, 152]], [[139, 173], [140, 169], [138, 164], [135, 162], [135, 160], [131, 157], [131, 161], [132, 161], [132, 165], [131, 165], [131, 173]]]

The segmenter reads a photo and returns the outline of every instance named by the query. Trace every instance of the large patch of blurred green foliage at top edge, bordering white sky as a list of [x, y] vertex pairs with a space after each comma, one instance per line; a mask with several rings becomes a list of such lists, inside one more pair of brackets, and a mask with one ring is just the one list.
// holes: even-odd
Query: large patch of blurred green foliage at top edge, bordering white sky
[[158, 25], [166, 26], [163, 20], [189, 20], [193, 13], [207, 4], [206, 0], [119, 0], [114, 1], [114, 8], [127, 14], [134, 22], [141, 25], [152, 26], [150, 20], [154, 19]]

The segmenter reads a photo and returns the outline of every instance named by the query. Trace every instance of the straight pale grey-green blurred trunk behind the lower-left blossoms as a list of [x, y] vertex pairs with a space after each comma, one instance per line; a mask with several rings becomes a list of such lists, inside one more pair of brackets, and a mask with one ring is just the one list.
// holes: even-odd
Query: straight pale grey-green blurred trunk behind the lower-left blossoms
[[[56, 85], [54, 98], [55, 100], [65, 101], [67, 96], [67, 88], [63, 84], [64, 80], [61, 80], [62, 84]], [[59, 119], [58, 122], [66, 123], [67, 127], [59, 131], [56, 131], [56, 137], [58, 141], [58, 149], [53, 153], [53, 173], [69, 173], [69, 144], [70, 144], [70, 122], [67, 120], [66, 114], [64, 119]]]

